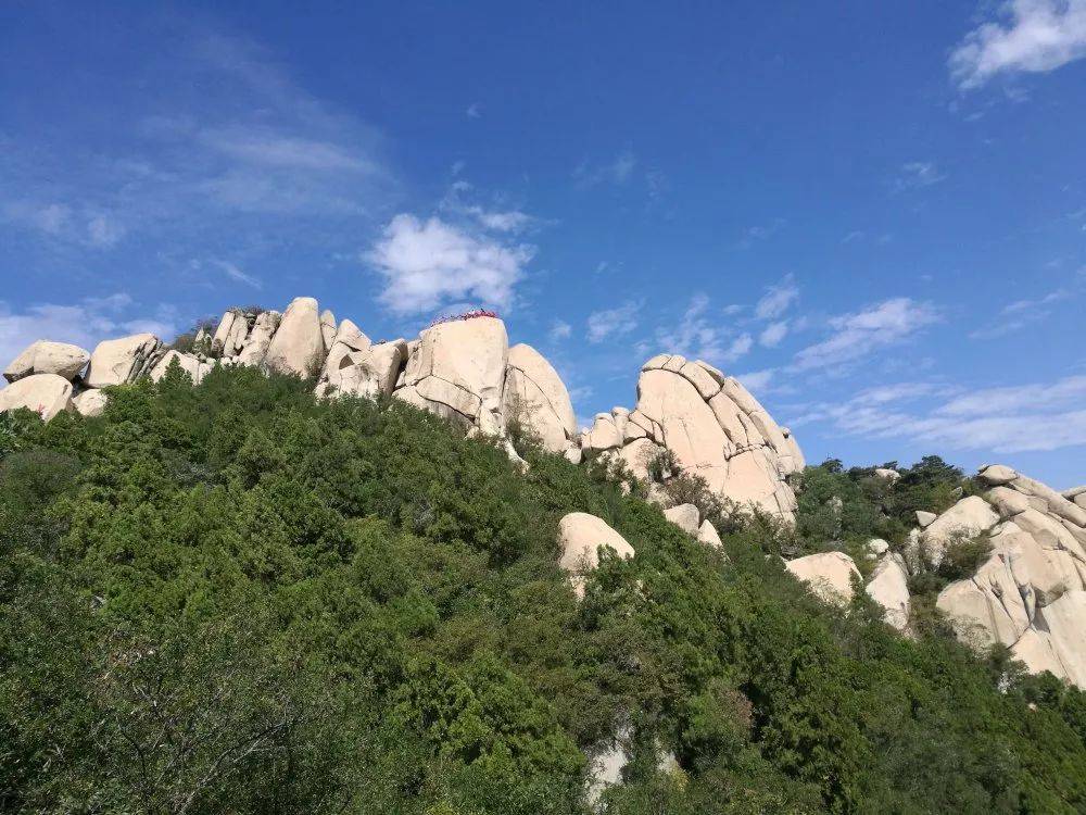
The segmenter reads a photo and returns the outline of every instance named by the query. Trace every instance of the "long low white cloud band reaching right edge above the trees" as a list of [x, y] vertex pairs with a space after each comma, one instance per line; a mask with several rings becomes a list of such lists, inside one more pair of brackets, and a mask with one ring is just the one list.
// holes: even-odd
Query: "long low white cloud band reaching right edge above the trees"
[[987, 388], [954, 396], [929, 410], [910, 403], [954, 392], [931, 383], [869, 389], [841, 403], [812, 405], [792, 426], [829, 422], [869, 438], [909, 438], [951, 450], [1014, 453], [1086, 444], [1086, 377], [1051, 384]]

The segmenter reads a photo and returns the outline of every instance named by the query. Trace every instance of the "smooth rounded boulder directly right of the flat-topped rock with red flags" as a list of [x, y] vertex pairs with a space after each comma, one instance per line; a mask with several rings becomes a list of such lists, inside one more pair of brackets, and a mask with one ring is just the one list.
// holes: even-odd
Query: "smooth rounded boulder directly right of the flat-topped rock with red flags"
[[509, 349], [502, 394], [505, 421], [517, 421], [540, 437], [543, 447], [560, 453], [577, 434], [569, 391], [550, 362], [531, 346]]

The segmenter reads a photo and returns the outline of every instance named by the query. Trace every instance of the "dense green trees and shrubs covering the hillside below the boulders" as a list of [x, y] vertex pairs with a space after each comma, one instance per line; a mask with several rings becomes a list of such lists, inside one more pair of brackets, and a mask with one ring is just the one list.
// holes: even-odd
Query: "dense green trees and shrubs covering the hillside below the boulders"
[[[822, 605], [758, 519], [725, 557], [602, 467], [520, 475], [311, 389], [174, 365], [99, 418], [0, 423], [0, 810], [583, 813], [619, 728], [614, 815], [1086, 808], [1078, 691]], [[874, 503], [824, 467], [805, 502], [820, 478]], [[842, 535], [901, 523], [897, 489]], [[570, 511], [637, 552], [580, 604]], [[804, 546], [836, 538], [804, 507]]]

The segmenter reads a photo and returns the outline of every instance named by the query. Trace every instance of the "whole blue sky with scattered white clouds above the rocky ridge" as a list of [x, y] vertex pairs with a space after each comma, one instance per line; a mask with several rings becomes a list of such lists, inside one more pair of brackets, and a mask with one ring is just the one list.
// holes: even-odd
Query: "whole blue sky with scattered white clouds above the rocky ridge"
[[585, 418], [678, 351], [812, 461], [1086, 481], [1086, 0], [296, 9], [0, 7], [0, 355], [491, 305]]

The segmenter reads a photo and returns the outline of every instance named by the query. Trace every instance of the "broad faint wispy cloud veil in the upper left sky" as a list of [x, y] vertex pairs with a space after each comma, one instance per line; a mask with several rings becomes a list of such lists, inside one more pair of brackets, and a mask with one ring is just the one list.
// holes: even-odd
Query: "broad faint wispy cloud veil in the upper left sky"
[[178, 17], [163, 25], [155, 92], [111, 100], [109, 142], [67, 136], [80, 117], [98, 121], [91, 99], [65, 110], [66, 127], [38, 122], [0, 138], [0, 235], [147, 253], [161, 267], [193, 250], [345, 248], [380, 218], [396, 181], [376, 129], [298, 86], [252, 41]]

